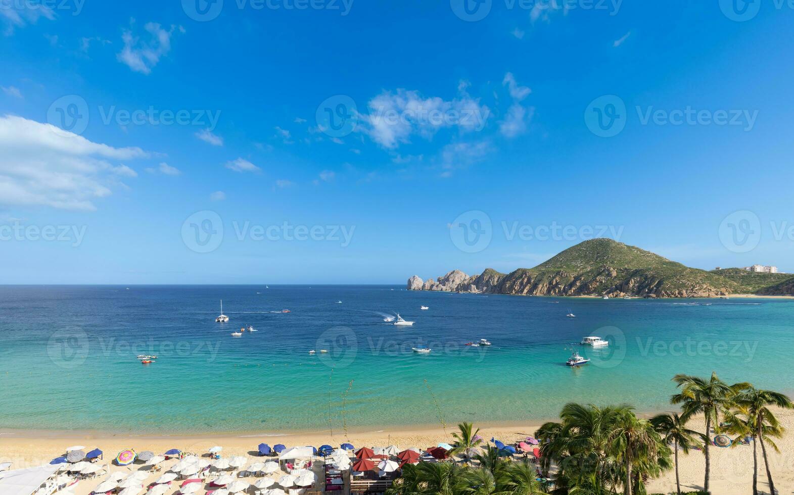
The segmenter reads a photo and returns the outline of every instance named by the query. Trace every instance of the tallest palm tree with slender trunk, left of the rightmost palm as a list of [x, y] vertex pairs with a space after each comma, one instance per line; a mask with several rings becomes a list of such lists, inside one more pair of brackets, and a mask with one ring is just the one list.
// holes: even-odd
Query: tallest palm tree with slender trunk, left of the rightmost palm
[[676, 374], [673, 382], [680, 387], [680, 393], [670, 398], [673, 404], [681, 405], [681, 420], [687, 422], [692, 416], [703, 413], [706, 416], [706, 433], [703, 444], [703, 455], [706, 458], [706, 474], [703, 491], [708, 492], [708, 480], [711, 475], [711, 457], [708, 447], [711, 444], [711, 424], [715, 424], [715, 432], [719, 432], [719, 414], [724, 413], [733, 405], [732, 399], [741, 389], [750, 384], [737, 383], [729, 386], [719, 379], [716, 373], [705, 379], [688, 374]]

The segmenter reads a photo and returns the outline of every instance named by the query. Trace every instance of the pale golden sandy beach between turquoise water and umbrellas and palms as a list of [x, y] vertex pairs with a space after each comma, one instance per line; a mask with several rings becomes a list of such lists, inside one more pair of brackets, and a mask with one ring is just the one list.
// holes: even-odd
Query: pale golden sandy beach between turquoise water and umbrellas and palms
[[[794, 493], [794, 412], [780, 411], [778, 418], [788, 428], [788, 435], [778, 441], [781, 454], [768, 448], [770, 464], [776, 487], [780, 493]], [[539, 423], [538, 423], [539, 424]], [[485, 439], [495, 437], [505, 443], [534, 434], [538, 424], [514, 424], [489, 426], [480, 430], [480, 436]], [[698, 429], [702, 423], [693, 420], [690, 425]], [[163, 453], [171, 448], [182, 451], [205, 454], [214, 445], [223, 447], [223, 456], [246, 455], [253, 461], [263, 459], [256, 457], [256, 445], [260, 442], [283, 443], [287, 447], [314, 445], [315, 447], [328, 443], [338, 446], [340, 443], [349, 442], [358, 447], [387, 446], [395, 444], [401, 449], [408, 447], [431, 447], [439, 442], [452, 441], [451, 434], [456, 431], [454, 425], [444, 428], [413, 428], [399, 430], [380, 430], [369, 432], [295, 432], [284, 434], [256, 432], [237, 434], [218, 434], [205, 436], [131, 436], [113, 435], [97, 432], [48, 432], [48, 431], [0, 431], [0, 462], [13, 462], [13, 468], [37, 466], [49, 462], [64, 453], [64, 449], [74, 444], [80, 444], [93, 449], [98, 447], [105, 452], [102, 462], [110, 462], [118, 451], [132, 447], [137, 451], [154, 451]], [[751, 492], [753, 449], [752, 447], [718, 448], [712, 447], [712, 493], [715, 495], [739, 495]], [[761, 462], [761, 449], [759, 447], [759, 489], [767, 489], [766, 476]], [[169, 462], [164, 463], [164, 469]], [[693, 451], [690, 455], [680, 455], [680, 478], [682, 489], [700, 489], [703, 484], [703, 455]], [[129, 472], [137, 470], [140, 464], [133, 466], [110, 466], [110, 470], [123, 470]], [[152, 482], [160, 474], [152, 474], [147, 482]], [[74, 487], [75, 495], [88, 495], [102, 478], [79, 482]], [[256, 478], [247, 478], [250, 482]], [[662, 478], [648, 483], [649, 493], [670, 493], [675, 490], [675, 473], [671, 470]], [[767, 489], [768, 490], [768, 489]], [[198, 493], [203, 493], [199, 491]]]

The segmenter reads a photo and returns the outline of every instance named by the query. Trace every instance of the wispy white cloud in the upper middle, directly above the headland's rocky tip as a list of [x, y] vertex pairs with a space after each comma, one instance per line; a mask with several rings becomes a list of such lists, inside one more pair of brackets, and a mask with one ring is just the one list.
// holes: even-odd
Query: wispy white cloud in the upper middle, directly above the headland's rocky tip
[[409, 143], [413, 134], [430, 139], [443, 128], [482, 130], [490, 110], [480, 106], [479, 99], [465, 94], [466, 87], [459, 86], [459, 98], [449, 101], [425, 98], [418, 91], [384, 91], [368, 102], [368, 114], [359, 116], [360, 129], [377, 144], [391, 149]]

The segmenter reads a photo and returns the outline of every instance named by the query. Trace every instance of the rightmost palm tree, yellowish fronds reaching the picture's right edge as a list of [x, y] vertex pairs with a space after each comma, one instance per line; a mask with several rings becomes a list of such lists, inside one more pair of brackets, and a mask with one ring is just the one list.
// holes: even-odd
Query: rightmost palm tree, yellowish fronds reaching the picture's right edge
[[[777, 445], [773, 443], [770, 437], [781, 436], [784, 428], [777, 420], [775, 415], [769, 409], [769, 406], [776, 406], [783, 409], [794, 409], [792, 401], [783, 393], [773, 392], [772, 390], [756, 389], [754, 386], [747, 386], [734, 397], [734, 402], [738, 406], [739, 411], [745, 414], [746, 429], [752, 433], [753, 437], [753, 459], [754, 459], [754, 472], [753, 472], [753, 494], [757, 495], [757, 461], [756, 461], [756, 447], [755, 441], [761, 443], [761, 454], [764, 457], [764, 466], [766, 468], [766, 478], [769, 482], [769, 493], [775, 493], [775, 484], [772, 481], [772, 472], [769, 470], [769, 460], [766, 456], [766, 444], [777, 450]], [[741, 428], [740, 418], [732, 418], [736, 420], [738, 428]]]

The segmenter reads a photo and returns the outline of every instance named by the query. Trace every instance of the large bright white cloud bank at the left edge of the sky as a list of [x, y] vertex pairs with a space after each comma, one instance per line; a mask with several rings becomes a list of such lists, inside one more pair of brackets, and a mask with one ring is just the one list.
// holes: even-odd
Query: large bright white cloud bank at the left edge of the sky
[[111, 160], [147, 158], [141, 148], [113, 148], [53, 125], [0, 117], [0, 203], [93, 211], [112, 194], [114, 175], [134, 171]]

